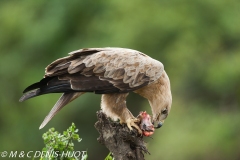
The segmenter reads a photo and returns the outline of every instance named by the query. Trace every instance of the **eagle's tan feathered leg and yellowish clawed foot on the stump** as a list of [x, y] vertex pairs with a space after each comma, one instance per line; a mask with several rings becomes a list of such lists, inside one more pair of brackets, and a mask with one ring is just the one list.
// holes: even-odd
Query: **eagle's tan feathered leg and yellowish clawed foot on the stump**
[[127, 109], [126, 97], [128, 93], [113, 93], [103, 94], [101, 101], [101, 108], [103, 112], [113, 120], [120, 119], [120, 123], [126, 123], [128, 128], [136, 128], [140, 134], [142, 130], [136, 124], [140, 120], [135, 118], [132, 113]]

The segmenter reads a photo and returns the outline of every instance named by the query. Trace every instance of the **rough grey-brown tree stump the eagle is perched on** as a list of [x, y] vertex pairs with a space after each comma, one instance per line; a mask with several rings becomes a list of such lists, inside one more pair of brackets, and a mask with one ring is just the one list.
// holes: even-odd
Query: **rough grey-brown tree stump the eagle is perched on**
[[97, 117], [95, 128], [100, 134], [97, 140], [109, 149], [115, 160], [144, 160], [144, 154], [149, 154], [137, 130], [130, 132], [126, 125], [109, 120], [102, 111], [97, 112]]

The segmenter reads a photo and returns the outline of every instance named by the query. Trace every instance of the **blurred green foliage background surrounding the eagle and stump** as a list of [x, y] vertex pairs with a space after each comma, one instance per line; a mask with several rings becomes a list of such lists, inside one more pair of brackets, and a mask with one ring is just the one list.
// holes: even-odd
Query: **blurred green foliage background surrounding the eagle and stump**
[[[145, 138], [146, 159], [240, 159], [238, 0], [0, 1], [0, 152], [41, 150], [46, 130], [74, 122], [83, 138], [76, 150], [88, 150], [89, 160], [106, 157], [93, 126], [100, 95], [83, 95], [42, 130], [60, 94], [18, 102], [49, 63], [87, 47], [132, 48], [164, 64], [172, 110]], [[127, 103], [135, 116], [150, 112], [134, 93]]]

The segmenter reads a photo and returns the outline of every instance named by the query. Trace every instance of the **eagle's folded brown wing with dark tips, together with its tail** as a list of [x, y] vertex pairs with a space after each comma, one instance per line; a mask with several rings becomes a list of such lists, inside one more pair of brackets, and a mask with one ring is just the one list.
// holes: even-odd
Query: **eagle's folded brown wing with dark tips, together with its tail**
[[44, 78], [27, 87], [20, 101], [47, 93], [64, 93], [42, 128], [81, 92], [127, 93], [156, 81], [163, 69], [161, 62], [131, 49], [81, 49], [48, 65]]

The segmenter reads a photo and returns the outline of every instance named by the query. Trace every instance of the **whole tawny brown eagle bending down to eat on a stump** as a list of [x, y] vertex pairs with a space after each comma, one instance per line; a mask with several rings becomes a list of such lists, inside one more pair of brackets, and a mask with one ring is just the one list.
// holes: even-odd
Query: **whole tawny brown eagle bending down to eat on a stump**
[[170, 81], [162, 63], [131, 49], [88, 48], [73, 51], [48, 65], [44, 78], [27, 87], [20, 101], [63, 93], [41, 124], [43, 128], [62, 107], [85, 92], [103, 94], [103, 112], [141, 132], [134, 123], [138, 120], [126, 107], [131, 91], [149, 100], [153, 120], [161, 126], [172, 103]]

